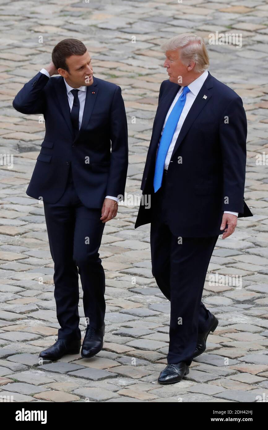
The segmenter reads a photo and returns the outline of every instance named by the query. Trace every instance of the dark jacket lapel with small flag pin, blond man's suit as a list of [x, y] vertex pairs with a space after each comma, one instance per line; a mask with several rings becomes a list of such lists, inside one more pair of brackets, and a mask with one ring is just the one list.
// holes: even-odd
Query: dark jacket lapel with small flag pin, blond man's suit
[[[200, 114], [202, 109], [206, 106], [206, 103], [209, 101], [209, 98], [212, 96], [212, 91], [210, 90], [211, 88], [213, 88], [212, 76], [208, 72], [208, 76], [206, 77], [205, 82], [201, 86], [200, 91], [198, 92], [198, 94], [194, 100], [194, 103], [191, 105], [190, 111], [188, 112], [188, 114], [184, 120], [184, 123], [182, 124], [182, 128], [181, 128], [181, 130], [179, 132], [179, 136], [176, 140], [176, 143], [175, 143], [175, 146], [173, 149], [173, 153], [171, 155], [171, 159], [172, 159], [173, 155], [175, 154], [175, 152], [177, 151], [179, 145], [182, 143], [182, 140], [185, 137], [188, 130], [190, 129], [192, 123], [197, 118], [197, 116]], [[204, 96], [205, 96], [205, 98], [204, 98]]]

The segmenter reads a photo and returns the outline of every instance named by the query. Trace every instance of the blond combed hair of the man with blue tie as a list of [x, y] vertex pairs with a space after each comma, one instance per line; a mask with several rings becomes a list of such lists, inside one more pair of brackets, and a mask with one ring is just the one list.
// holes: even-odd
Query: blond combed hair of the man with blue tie
[[179, 50], [182, 64], [188, 66], [194, 61], [194, 71], [197, 73], [205, 71], [209, 67], [209, 55], [203, 37], [192, 33], [179, 34], [167, 40], [161, 45], [161, 49], [166, 51]]

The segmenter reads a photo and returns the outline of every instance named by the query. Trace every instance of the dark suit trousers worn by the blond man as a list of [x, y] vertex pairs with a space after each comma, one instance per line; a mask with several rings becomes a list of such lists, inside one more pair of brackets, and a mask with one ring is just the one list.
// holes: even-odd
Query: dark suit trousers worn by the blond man
[[[191, 364], [198, 332], [205, 332], [212, 315], [202, 303], [202, 292], [213, 249], [219, 236], [183, 237], [182, 243], [169, 230], [166, 207], [166, 174], [152, 199], [152, 273], [170, 301], [168, 363]], [[209, 208], [208, 208], [209, 210]]]

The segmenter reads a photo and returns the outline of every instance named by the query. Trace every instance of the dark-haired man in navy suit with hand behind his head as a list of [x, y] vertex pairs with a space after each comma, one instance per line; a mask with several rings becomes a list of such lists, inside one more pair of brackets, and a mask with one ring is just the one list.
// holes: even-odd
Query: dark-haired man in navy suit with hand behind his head
[[[55, 74], [60, 76], [51, 77]], [[80, 351], [78, 273], [87, 320], [81, 355], [91, 357], [102, 349], [105, 332], [99, 246], [126, 184], [127, 122], [121, 89], [93, 76], [89, 52], [80, 40], [65, 39], [53, 49], [52, 62], [18, 92], [13, 107], [23, 114], [43, 114], [46, 121], [26, 194], [43, 201], [61, 328], [55, 344], [40, 357], [56, 360]]]

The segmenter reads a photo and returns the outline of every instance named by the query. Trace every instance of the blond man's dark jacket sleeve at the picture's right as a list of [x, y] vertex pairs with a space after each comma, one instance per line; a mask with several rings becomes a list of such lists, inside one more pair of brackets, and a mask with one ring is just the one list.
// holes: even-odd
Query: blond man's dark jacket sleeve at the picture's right
[[243, 213], [246, 135], [246, 113], [242, 99], [237, 96], [225, 108], [219, 126], [223, 169], [223, 211]]

